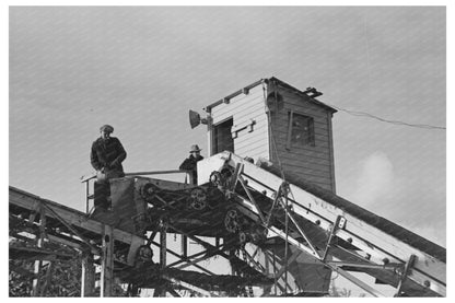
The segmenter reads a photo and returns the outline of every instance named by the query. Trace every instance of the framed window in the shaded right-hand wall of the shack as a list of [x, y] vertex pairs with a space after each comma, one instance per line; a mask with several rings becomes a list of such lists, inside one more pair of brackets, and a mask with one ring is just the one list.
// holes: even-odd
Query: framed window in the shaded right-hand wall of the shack
[[291, 110], [289, 112], [287, 149], [303, 145], [315, 145], [314, 119]]

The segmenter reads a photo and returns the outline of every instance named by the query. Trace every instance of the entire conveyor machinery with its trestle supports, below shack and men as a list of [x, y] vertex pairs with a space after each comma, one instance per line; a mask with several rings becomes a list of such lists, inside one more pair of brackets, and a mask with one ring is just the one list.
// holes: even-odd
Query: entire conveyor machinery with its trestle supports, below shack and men
[[[112, 210], [90, 219], [10, 187], [10, 218], [39, 222], [38, 237], [98, 255], [105, 295], [112, 295], [115, 280], [129, 284], [130, 293], [152, 288], [178, 295], [177, 288], [199, 295], [254, 295], [255, 288], [260, 295], [326, 295], [335, 271], [375, 296], [381, 292], [352, 272], [396, 288], [397, 295], [445, 296], [444, 248], [328, 190], [277, 174], [223, 152], [198, 163], [200, 186], [113, 179]], [[166, 234], [182, 236], [182, 254], [166, 246]], [[188, 256], [187, 238], [205, 250]], [[168, 254], [178, 260], [167, 264]], [[234, 275], [198, 266], [214, 256], [226, 259]], [[184, 270], [189, 266], [197, 271]], [[84, 287], [94, 288], [93, 281]]]

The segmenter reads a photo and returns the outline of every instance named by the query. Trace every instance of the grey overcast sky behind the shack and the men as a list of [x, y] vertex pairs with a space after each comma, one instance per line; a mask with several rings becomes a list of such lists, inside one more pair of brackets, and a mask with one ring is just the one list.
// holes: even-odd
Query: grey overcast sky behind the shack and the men
[[[10, 9], [10, 185], [83, 210], [90, 148], [115, 127], [126, 172], [207, 155], [201, 108], [275, 75], [318, 100], [445, 126], [445, 9]], [[446, 132], [334, 116], [337, 194], [445, 246]]]

